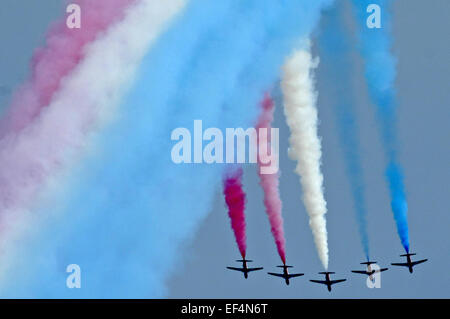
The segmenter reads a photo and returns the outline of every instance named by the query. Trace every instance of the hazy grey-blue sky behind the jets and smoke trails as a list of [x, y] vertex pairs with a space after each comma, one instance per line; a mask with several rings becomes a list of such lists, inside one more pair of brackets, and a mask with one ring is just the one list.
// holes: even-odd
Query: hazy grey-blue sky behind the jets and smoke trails
[[[3, 0], [0, 6], [0, 108], [7, 103], [11, 89], [26, 76], [29, 58], [44, 32], [62, 8], [62, 0]], [[338, 1], [347, 12], [350, 31], [354, 21], [347, 1]], [[248, 257], [264, 271], [250, 274], [244, 280], [239, 273], [225, 269], [238, 259], [239, 253], [230, 229], [223, 198], [217, 191], [216, 204], [199, 225], [198, 232], [180, 250], [185, 262], [169, 281], [174, 298], [449, 298], [450, 214], [445, 200], [449, 197], [449, 120], [450, 120], [450, 2], [447, 0], [397, 0], [394, 12], [394, 50], [398, 56], [398, 127], [400, 160], [404, 167], [409, 201], [409, 227], [412, 252], [429, 262], [406, 269], [388, 266], [403, 262], [398, 255], [403, 248], [384, 181], [385, 161], [363, 77], [362, 61], [354, 52], [350, 76], [357, 105], [362, 160], [369, 208], [369, 236], [372, 259], [389, 271], [382, 276], [381, 289], [368, 289], [365, 277], [350, 273], [359, 269], [364, 255], [361, 249], [355, 213], [352, 206], [343, 154], [333, 111], [333, 91], [325, 85], [327, 70], [319, 67], [320, 134], [323, 143], [323, 173], [328, 201], [330, 271], [336, 278], [348, 281], [334, 286], [329, 294], [325, 287], [308, 279], [322, 266], [316, 254], [308, 218], [301, 201], [299, 179], [293, 173], [295, 163], [287, 157], [289, 136], [282, 108], [277, 105], [275, 127], [280, 128], [281, 196], [287, 238], [288, 263], [294, 271], [306, 276], [293, 279], [286, 287], [281, 280], [269, 277], [267, 271], [280, 264], [264, 212], [262, 190], [256, 168], [245, 170], [247, 191]], [[323, 23], [323, 21], [322, 21]], [[319, 28], [320, 29], [320, 28]], [[316, 50], [317, 52], [317, 50]], [[327, 82], [329, 83], [329, 81]], [[362, 269], [362, 268], [361, 268]]]

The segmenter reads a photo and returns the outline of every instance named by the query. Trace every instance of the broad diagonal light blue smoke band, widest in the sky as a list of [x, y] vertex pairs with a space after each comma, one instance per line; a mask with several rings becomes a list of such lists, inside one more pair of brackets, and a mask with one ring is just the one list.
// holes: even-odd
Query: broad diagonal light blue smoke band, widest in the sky
[[[165, 280], [211, 208], [224, 168], [174, 164], [172, 130], [193, 132], [195, 119], [204, 128], [253, 124], [283, 58], [329, 2], [193, 0], [146, 57], [120, 120], [71, 175], [65, 196], [59, 194], [64, 200], [49, 216], [61, 217], [22, 243], [26, 260], [11, 270], [14, 282], [2, 294], [164, 296]], [[84, 274], [81, 289], [65, 286], [71, 263]]]

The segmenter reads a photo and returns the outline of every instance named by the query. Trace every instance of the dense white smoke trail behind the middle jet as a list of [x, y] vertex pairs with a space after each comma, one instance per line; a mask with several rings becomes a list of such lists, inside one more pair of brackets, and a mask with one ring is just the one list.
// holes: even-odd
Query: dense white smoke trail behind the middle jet
[[283, 67], [281, 88], [284, 113], [291, 130], [289, 156], [297, 161], [296, 172], [300, 175], [303, 202], [309, 215], [319, 258], [328, 268], [328, 242], [325, 214], [326, 201], [323, 194], [321, 143], [317, 132], [317, 94], [314, 89], [313, 70], [318, 60], [313, 60], [309, 50], [299, 50]]

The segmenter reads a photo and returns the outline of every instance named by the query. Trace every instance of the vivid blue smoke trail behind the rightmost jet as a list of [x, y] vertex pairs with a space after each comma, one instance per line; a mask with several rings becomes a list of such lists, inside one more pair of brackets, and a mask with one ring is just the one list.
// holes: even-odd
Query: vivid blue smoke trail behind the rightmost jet
[[[359, 20], [361, 53], [366, 65], [366, 79], [369, 94], [377, 107], [377, 118], [380, 125], [383, 147], [388, 165], [386, 179], [390, 189], [391, 208], [397, 224], [397, 232], [403, 247], [409, 251], [409, 231], [405, 186], [400, 164], [397, 162], [397, 128], [396, 128], [396, 96], [395, 77], [396, 61], [391, 53], [391, 16], [390, 1], [378, 0], [353, 1]], [[381, 28], [369, 29], [366, 12], [371, 4], [381, 8]]]

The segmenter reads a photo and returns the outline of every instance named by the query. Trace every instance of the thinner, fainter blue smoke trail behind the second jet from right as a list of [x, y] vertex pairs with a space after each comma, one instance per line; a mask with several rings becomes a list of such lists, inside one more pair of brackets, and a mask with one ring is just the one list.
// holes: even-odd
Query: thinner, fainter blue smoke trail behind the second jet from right
[[351, 44], [343, 27], [342, 6], [336, 5], [324, 14], [325, 26], [320, 32], [320, 61], [326, 70], [327, 90], [334, 92], [333, 103], [340, 144], [344, 152], [345, 166], [350, 180], [351, 193], [356, 210], [361, 244], [369, 260], [369, 236], [367, 232], [367, 204], [365, 183], [360, 158], [359, 128], [355, 119], [350, 79], [346, 75], [352, 68]]

